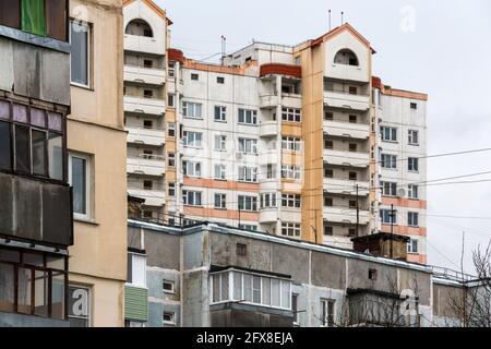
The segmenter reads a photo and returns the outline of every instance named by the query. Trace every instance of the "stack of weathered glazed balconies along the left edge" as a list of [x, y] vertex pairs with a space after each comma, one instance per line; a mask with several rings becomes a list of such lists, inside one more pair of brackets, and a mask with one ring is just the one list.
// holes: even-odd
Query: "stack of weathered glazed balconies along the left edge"
[[1, 327], [69, 325], [68, 17], [68, 1], [0, 2]]

